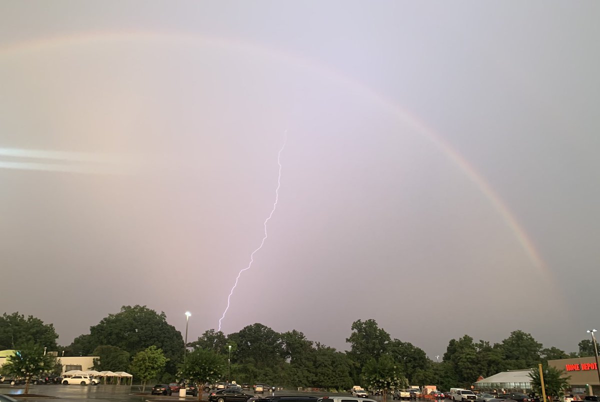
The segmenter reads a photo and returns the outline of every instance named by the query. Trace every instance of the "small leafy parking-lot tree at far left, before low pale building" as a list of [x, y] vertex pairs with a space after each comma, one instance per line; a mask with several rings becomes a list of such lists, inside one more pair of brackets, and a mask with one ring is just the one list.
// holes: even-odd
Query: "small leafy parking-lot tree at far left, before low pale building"
[[25, 377], [25, 394], [28, 394], [31, 377], [52, 371], [55, 365], [54, 356], [44, 355], [44, 348], [30, 341], [17, 349], [14, 355], [8, 356], [0, 370], [4, 374]]

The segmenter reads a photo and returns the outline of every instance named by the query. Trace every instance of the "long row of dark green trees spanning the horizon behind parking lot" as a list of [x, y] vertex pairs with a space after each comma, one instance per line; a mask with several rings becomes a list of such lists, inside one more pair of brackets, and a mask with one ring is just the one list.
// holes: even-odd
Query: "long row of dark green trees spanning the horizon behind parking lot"
[[[578, 352], [566, 353], [544, 348], [532, 335], [517, 330], [495, 344], [475, 342], [469, 335], [452, 339], [438, 362], [419, 347], [392, 338], [373, 319], [352, 323], [346, 338], [350, 350], [345, 352], [308, 340], [296, 329], [280, 333], [261, 323], [229, 335], [209, 329], [186, 348], [181, 332], [164, 313], [140, 305], [109, 314], [69, 346], [59, 346], [57, 339], [53, 325], [35, 317], [4, 313], [0, 318], [0, 349], [35, 346], [59, 350], [59, 355], [64, 351], [64, 356], [100, 356], [94, 361], [95, 370], [137, 370], [133, 374], [138, 379], [160, 382], [233, 379], [328, 390], [353, 385], [394, 389], [410, 383], [449, 389], [470, 386], [479, 376], [546, 365], [551, 359], [594, 355], [591, 340], [582, 340]], [[148, 365], [149, 359], [154, 366]], [[152, 370], [141, 373], [142, 362]]]

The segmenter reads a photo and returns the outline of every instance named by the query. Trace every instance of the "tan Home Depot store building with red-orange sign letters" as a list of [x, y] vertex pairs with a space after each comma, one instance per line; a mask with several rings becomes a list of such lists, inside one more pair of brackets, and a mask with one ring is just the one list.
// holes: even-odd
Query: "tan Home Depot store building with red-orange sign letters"
[[565, 371], [563, 377], [570, 377], [569, 382], [575, 394], [583, 394], [587, 391], [591, 392], [590, 395], [600, 395], [600, 374], [596, 367], [595, 356], [548, 360], [548, 365]]

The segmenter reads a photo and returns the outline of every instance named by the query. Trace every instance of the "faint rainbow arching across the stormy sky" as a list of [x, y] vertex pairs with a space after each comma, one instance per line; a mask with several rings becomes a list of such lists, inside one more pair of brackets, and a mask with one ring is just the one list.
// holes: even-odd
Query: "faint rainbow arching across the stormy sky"
[[[374, 91], [373, 88], [365, 86], [361, 82], [358, 82], [350, 77], [344, 76], [339, 71], [332, 69], [326, 65], [311, 61], [310, 59], [301, 58], [294, 53], [286, 52], [284, 50], [274, 50], [266, 47], [258, 46], [257, 44], [247, 43], [242, 41], [236, 41], [231, 39], [217, 38], [200, 36], [194, 34], [181, 34], [181, 33], [157, 33], [157, 32], [145, 32], [145, 31], [122, 31], [122, 32], [85, 32], [78, 35], [64, 35], [56, 36], [43, 39], [35, 39], [29, 41], [21, 41], [17, 43], [11, 43], [0, 47], [0, 57], [7, 57], [11, 55], [17, 55], [18, 53], [26, 52], [37, 52], [39, 50], [51, 50], [53, 47], [67, 47], [77, 46], [91, 43], [106, 43], [110, 41], [152, 41], [152, 42], [163, 42], [173, 43], [176, 41], [178, 44], [190, 44], [190, 46], [209, 46], [217, 48], [227, 48], [232, 50], [239, 50], [242, 52], [257, 53], [268, 58], [283, 60], [285, 62], [292, 63], [295, 66], [312, 70], [316, 73], [323, 74], [329, 79], [335, 80], [341, 85], [347, 86], [355, 91], [358, 91], [365, 96], [368, 96], [374, 103], [382, 107], [383, 110], [391, 113], [400, 121], [409, 124], [422, 136], [427, 139], [434, 147], [436, 147], [448, 160], [455, 164], [470, 181], [475, 184], [482, 194], [490, 202], [491, 206], [496, 210], [506, 226], [514, 233], [515, 238], [523, 248], [524, 252], [529, 257], [532, 265], [539, 271], [544, 271], [544, 261], [539, 255], [535, 248], [532, 240], [527, 236], [527, 233], [512, 214], [511, 210], [506, 204], [500, 199], [499, 195], [494, 191], [490, 184], [485, 178], [477, 172], [477, 170], [465, 160], [461, 154], [455, 150], [448, 142], [446, 142], [441, 136], [437, 135], [430, 127], [424, 122], [420, 121], [416, 116], [411, 115], [407, 110], [403, 109], [399, 104], [394, 103], [382, 94]], [[16, 152], [16, 151], [14, 151]], [[19, 151], [21, 156], [26, 156], [27, 150]], [[39, 152], [39, 151], [38, 151]], [[52, 152], [52, 151], [50, 151]], [[59, 152], [59, 151], [53, 151]], [[18, 152], [17, 152], [18, 153]], [[31, 155], [29, 155], [31, 156]], [[19, 169], [15, 163], [0, 164], [0, 168], [11, 168]], [[36, 166], [29, 164], [26, 169], [43, 169], [44, 166]], [[58, 169], [61, 171], [62, 169]]]

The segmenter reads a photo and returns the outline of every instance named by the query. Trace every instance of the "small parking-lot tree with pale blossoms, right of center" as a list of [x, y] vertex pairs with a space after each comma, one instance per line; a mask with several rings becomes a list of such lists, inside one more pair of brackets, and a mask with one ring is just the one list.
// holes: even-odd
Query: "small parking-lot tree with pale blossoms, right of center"
[[400, 366], [386, 355], [367, 361], [362, 368], [362, 381], [368, 389], [381, 389], [383, 402], [386, 402], [389, 391], [409, 386], [409, 380], [403, 376]]

